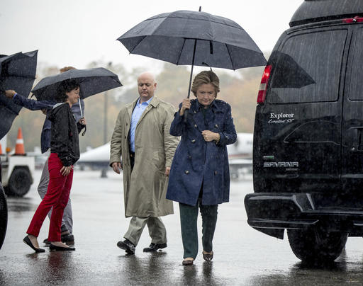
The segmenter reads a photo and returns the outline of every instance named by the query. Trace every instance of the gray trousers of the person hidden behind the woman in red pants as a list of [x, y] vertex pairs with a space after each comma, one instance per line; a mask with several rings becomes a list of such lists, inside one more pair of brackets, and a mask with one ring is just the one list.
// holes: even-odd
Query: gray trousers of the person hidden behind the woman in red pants
[[[44, 198], [45, 194], [48, 190], [48, 183], [49, 183], [49, 171], [48, 171], [48, 159], [45, 161], [42, 176], [40, 177], [40, 182], [38, 185], [38, 193], [40, 195], [40, 198]], [[50, 219], [52, 215], [52, 210], [48, 212], [48, 217]], [[73, 231], [73, 219], [72, 219], [72, 204], [71, 204], [71, 198], [69, 197], [67, 206], [65, 207], [65, 211], [63, 212], [62, 217], [62, 227], [61, 231], [69, 231], [70, 234], [72, 234]]]

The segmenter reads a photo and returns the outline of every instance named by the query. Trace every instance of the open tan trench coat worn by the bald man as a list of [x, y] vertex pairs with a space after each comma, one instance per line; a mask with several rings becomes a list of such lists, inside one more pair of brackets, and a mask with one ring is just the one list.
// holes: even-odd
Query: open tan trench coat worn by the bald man
[[111, 139], [110, 164], [123, 166], [125, 217], [162, 217], [173, 214], [171, 200], [165, 198], [165, 167], [172, 159], [179, 139], [170, 135], [175, 108], [154, 96], [141, 115], [135, 130], [135, 165], [131, 172], [129, 131], [133, 108], [138, 100], [125, 105], [118, 113]]

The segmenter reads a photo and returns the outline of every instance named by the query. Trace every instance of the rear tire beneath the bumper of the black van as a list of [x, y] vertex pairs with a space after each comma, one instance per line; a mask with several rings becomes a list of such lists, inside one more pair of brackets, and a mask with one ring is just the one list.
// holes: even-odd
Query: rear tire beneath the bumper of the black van
[[348, 234], [323, 229], [307, 231], [288, 229], [289, 244], [295, 256], [303, 262], [333, 262], [340, 256]]

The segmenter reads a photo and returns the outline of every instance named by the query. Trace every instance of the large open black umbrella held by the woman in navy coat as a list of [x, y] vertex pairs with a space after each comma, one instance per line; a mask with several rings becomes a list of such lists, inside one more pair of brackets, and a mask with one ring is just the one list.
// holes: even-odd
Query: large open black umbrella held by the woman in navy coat
[[[266, 64], [259, 47], [238, 23], [200, 10], [148, 18], [117, 40], [131, 54], [190, 64], [191, 77], [194, 65], [235, 70]], [[189, 93], [190, 85], [191, 80]]]

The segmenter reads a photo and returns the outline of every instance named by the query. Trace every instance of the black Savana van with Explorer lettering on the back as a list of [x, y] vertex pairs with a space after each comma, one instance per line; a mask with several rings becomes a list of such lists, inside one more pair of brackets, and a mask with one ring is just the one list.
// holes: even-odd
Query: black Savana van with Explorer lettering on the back
[[306, 0], [262, 75], [248, 224], [303, 261], [363, 236], [363, 1]]

